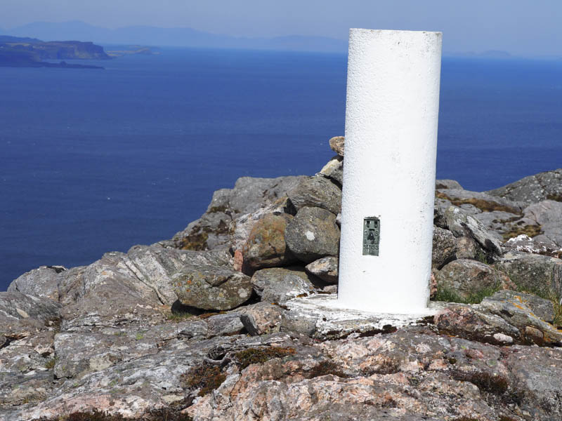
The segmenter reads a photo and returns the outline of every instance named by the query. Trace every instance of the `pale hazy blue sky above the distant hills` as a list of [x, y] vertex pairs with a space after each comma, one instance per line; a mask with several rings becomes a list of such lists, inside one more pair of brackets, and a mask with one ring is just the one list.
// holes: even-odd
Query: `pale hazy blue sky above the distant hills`
[[234, 36], [350, 27], [443, 31], [444, 49], [562, 55], [562, 0], [0, 0], [0, 27], [82, 20], [107, 28], [192, 27]]

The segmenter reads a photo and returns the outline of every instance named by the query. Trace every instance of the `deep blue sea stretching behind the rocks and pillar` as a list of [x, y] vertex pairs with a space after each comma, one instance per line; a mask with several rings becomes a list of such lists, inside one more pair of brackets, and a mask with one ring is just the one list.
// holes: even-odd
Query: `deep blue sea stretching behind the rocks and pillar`
[[[346, 60], [163, 49], [0, 67], [0, 290], [169, 239], [242, 175], [317, 172], [344, 133]], [[560, 167], [561, 61], [443, 59], [438, 178], [485, 190]]]

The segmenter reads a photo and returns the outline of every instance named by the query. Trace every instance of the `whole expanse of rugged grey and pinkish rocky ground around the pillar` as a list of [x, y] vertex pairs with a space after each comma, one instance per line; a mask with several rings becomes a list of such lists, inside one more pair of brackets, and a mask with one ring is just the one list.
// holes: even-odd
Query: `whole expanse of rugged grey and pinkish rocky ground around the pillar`
[[310, 306], [337, 292], [330, 144], [318, 174], [240, 178], [169, 241], [15, 279], [0, 418], [561, 420], [562, 169], [438, 180], [434, 316], [330, 319]]

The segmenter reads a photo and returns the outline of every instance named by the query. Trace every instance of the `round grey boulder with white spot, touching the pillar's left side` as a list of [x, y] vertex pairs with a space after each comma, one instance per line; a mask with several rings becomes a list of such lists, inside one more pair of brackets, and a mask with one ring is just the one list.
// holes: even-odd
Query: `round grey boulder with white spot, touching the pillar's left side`
[[306, 263], [337, 256], [339, 236], [336, 215], [321, 208], [301, 208], [285, 229], [287, 247]]

